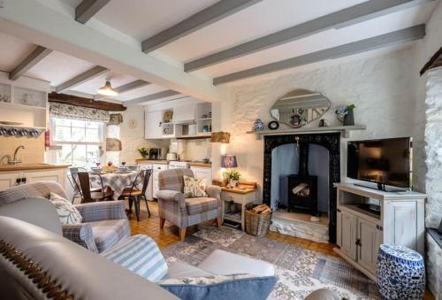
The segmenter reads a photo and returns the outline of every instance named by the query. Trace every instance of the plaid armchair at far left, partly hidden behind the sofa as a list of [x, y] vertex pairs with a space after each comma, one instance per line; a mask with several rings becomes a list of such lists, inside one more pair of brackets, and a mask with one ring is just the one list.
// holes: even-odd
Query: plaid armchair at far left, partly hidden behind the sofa
[[[65, 190], [54, 181], [39, 181], [0, 191], [0, 205], [30, 198], [50, 198], [55, 193], [67, 199]], [[63, 236], [95, 253], [101, 253], [130, 236], [124, 201], [106, 201], [75, 205], [81, 224], [62, 225]]]

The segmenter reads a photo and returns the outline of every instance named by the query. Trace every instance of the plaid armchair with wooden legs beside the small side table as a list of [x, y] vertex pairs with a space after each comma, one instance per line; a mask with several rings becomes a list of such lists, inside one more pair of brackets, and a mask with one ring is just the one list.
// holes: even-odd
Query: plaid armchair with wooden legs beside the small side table
[[158, 199], [160, 228], [167, 220], [179, 227], [181, 241], [186, 237], [186, 228], [203, 221], [214, 219], [221, 226], [221, 188], [207, 185], [207, 197], [186, 198], [183, 194], [183, 175], [194, 177], [190, 169], [171, 169], [158, 174]]

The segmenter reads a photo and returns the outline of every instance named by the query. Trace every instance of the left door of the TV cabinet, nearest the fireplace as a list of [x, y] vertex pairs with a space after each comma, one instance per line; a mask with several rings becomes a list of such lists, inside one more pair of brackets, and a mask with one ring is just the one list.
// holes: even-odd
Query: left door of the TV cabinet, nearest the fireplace
[[356, 261], [357, 218], [347, 212], [341, 212], [340, 250]]

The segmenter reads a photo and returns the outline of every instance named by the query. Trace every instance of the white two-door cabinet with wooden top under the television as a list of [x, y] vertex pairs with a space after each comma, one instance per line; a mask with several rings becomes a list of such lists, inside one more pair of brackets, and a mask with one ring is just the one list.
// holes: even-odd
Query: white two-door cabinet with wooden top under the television
[[[377, 251], [381, 243], [406, 246], [423, 255], [426, 195], [384, 192], [351, 183], [337, 183], [337, 244], [334, 250], [376, 281]], [[380, 205], [380, 215], [357, 207]]]

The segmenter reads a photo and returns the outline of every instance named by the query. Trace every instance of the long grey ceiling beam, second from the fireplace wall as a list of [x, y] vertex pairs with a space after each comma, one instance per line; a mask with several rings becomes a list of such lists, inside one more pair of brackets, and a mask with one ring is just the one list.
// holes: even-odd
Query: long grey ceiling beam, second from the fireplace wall
[[244, 42], [232, 48], [218, 51], [203, 58], [194, 59], [184, 64], [184, 71], [191, 72], [220, 64], [233, 58], [255, 53], [260, 50], [276, 47], [286, 42], [293, 42], [309, 35], [335, 28], [354, 25], [381, 15], [397, 12], [411, 5], [431, 2], [434, 0], [370, 0], [348, 7], [339, 12], [333, 12], [317, 19], [286, 28], [271, 35], [265, 35], [250, 42]]

